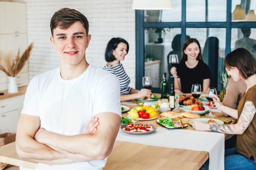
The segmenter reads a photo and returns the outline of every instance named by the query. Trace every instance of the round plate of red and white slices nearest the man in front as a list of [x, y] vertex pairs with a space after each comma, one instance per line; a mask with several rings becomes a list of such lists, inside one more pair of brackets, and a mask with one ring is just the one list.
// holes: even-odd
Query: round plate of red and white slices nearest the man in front
[[154, 132], [157, 127], [153, 124], [129, 123], [120, 126], [121, 130], [130, 135], [147, 135]]

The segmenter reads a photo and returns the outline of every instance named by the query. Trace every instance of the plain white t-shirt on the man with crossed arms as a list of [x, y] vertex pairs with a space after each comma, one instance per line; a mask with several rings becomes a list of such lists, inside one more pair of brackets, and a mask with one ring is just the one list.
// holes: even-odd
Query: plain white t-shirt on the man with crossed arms
[[[62, 135], [84, 134], [97, 113], [112, 112], [121, 117], [120, 85], [117, 77], [89, 65], [72, 80], [64, 80], [60, 68], [36, 75], [27, 87], [23, 114], [39, 116], [41, 128]], [[86, 144], [85, 144], [86, 145]], [[107, 158], [62, 165], [38, 164], [38, 170], [88, 170], [103, 168]]]

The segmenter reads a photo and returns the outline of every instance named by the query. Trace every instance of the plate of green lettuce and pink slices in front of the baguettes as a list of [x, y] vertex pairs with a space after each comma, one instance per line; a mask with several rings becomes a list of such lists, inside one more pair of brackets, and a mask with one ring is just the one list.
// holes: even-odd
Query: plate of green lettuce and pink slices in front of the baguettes
[[182, 124], [181, 120], [177, 120], [174, 118], [166, 118], [166, 119], [159, 119], [156, 122], [168, 129], [176, 129], [176, 128], [184, 128], [187, 127], [187, 124]]

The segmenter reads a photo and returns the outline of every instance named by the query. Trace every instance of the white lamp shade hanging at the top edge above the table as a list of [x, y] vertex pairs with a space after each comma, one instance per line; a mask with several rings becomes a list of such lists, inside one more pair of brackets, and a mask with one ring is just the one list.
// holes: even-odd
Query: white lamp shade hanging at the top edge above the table
[[173, 9], [171, 0], [133, 0], [132, 9], [162, 10]]

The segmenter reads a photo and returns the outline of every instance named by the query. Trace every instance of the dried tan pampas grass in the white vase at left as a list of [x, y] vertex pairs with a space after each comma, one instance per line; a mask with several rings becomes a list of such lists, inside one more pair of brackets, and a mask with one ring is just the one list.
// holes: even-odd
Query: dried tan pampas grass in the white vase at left
[[0, 70], [2, 70], [9, 77], [16, 77], [29, 59], [31, 50], [34, 47], [33, 44], [34, 43], [31, 43], [21, 56], [19, 49], [15, 59], [11, 56], [10, 52], [6, 57], [0, 53]]

